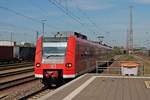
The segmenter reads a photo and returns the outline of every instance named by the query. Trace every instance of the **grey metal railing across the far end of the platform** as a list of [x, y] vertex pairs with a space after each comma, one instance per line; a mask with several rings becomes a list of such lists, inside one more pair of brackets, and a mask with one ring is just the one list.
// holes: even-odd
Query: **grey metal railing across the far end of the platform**
[[[144, 76], [145, 70], [144, 70], [144, 64], [140, 61], [96, 61], [96, 73], [99, 73], [101, 75], [123, 75], [123, 72], [126, 70], [123, 66], [121, 66], [122, 63], [136, 63], [139, 66], [137, 66], [137, 70], [135, 66], [129, 67], [127, 70], [133, 70], [137, 71], [136, 76]], [[125, 74], [125, 75], [134, 75], [134, 74]]]

